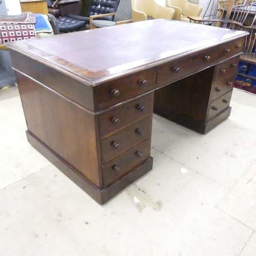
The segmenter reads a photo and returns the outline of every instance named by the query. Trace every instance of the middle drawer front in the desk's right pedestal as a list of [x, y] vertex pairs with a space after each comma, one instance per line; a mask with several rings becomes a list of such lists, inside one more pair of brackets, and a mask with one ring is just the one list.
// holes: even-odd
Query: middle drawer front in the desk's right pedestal
[[236, 78], [236, 73], [221, 80], [212, 83], [210, 92], [210, 102], [218, 99], [220, 96], [226, 94], [233, 89], [234, 79]]

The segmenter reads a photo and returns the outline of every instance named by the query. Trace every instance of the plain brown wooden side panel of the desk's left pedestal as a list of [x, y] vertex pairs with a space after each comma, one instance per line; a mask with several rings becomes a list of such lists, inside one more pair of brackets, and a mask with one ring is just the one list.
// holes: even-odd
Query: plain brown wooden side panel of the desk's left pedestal
[[102, 186], [98, 116], [17, 72], [28, 131], [95, 186]]

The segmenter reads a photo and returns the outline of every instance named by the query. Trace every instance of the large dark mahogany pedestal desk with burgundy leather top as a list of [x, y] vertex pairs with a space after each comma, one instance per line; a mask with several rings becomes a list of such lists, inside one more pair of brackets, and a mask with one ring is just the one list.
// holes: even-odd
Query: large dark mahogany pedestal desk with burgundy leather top
[[229, 116], [246, 35], [156, 19], [10, 42], [28, 141], [104, 204], [152, 169], [153, 107], [203, 134]]

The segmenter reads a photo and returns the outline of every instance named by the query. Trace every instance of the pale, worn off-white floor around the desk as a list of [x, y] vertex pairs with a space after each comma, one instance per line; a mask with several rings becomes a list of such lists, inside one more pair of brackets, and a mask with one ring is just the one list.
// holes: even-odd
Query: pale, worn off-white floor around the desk
[[154, 115], [153, 170], [100, 206], [27, 142], [17, 88], [1, 91], [0, 255], [255, 256], [256, 96], [231, 106], [207, 135]]

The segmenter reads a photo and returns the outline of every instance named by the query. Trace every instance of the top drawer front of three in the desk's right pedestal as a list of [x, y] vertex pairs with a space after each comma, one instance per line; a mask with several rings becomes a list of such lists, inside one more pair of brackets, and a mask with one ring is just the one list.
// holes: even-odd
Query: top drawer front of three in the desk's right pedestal
[[219, 81], [226, 78], [227, 76], [235, 74], [238, 69], [239, 59], [240, 59], [240, 55], [233, 57], [231, 59], [228, 59], [226, 61], [223, 61], [218, 65], [216, 65], [214, 81]]

